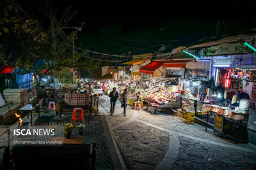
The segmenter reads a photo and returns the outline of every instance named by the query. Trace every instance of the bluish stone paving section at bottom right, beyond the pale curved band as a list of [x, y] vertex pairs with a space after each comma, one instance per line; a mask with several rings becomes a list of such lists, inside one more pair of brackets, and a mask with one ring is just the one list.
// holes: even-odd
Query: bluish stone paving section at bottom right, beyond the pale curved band
[[196, 142], [179, 136], [180, 149], [173, 169], [256, 169], [255, 154]]

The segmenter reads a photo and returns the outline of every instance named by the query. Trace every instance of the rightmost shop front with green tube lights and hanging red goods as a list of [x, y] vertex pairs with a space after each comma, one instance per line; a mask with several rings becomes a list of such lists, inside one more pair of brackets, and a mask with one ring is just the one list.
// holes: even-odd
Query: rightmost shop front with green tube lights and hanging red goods
[[[211, 127], [221, 136], [244, 142], [252, 141], [256, 136], [255, 125], [248, 123], [255, 122], [256, 55], [244, 45], [253, 39], [253, 35], [233, 36], [186, 49], [211, 66], [206, 73], [187, 68], [185, 85], [189, 85], [195, 101], [193, 97], [186, 102], [182, 100], [182, 108], [187, 106], [195, 113], [202, 111], [196, 114], [196, 120], [206, 125], [206, 131]], [[198, 81], [198, 74], [206, 76]], [[185, 94], [188, 94], [187, 90]]]

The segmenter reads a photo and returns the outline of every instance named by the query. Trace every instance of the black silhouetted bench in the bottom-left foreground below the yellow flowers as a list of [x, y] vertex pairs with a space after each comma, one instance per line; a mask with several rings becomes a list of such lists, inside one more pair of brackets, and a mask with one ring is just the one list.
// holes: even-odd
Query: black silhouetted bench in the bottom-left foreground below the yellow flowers
[[13, 160], [12, 166], [17, 170], [95, 169], [96, 144], [13, 146], [12, 155], [7, 158], [4, 162]]

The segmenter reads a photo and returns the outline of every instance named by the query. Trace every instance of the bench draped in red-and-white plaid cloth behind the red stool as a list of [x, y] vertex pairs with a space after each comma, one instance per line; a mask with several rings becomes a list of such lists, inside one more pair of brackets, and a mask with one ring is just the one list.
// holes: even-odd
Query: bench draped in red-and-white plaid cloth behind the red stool
[[83, 108], [83, 110], [90, 110], [92, 115], [92, 96], [90, 94], [77, 94], [77, 93], [65, 93], [63, 94], [60, 107], [60, 117], [63, 111], [71, 111], [73, 108]]

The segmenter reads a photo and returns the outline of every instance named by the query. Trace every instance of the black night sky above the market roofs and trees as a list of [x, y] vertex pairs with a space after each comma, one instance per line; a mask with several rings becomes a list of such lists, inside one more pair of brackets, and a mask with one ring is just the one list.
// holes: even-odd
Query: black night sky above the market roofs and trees
[[[41, 1], [45, 3], [44, 0]], [[44, 14], [31, 1], [18, 2], [28, 13], [40, 18], [43, 25], [49, 24]], [[172, 50], [202, 38], [211, 38], [216, 34], [217, 20], [220, 20], [220, 33], [225, 35], [252, 32], [256, 27], [255, 1], [111, 3], [72, 0], [65, 3], [52, 1], [51, 4], [54, 9], [58, 8], [59, 14], [66, 6], [79, 11], [69, 24], [78, 26], [85, 22], [83, 31], [79, 32], [77, 46], [120, 55], [127, 55], [128, 52], [134, 55], [154, 52], [161, 43]]]

